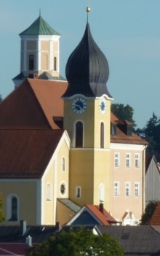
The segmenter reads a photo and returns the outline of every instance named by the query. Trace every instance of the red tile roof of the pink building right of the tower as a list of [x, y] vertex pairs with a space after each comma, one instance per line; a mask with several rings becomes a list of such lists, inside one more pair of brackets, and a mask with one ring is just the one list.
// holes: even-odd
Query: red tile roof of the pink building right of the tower
[[[116, 121], [119, 121], [119, 118], [117, 118], [115, 115], [113, 115], [113, 113], [111, 113], [111, 123], [116, 124]], [[129, 122], [125, 120], [123, 123], [128, 124]], [[127, 136], [118, 127], [116, 127], [116, 135], [111, 135], [111, 143], [148, 145], [148, 142], [145, 141], [144, 139], [141, 139], [140, 136], [137, 136], [137, 134], [132, 133], [132, 136]]]

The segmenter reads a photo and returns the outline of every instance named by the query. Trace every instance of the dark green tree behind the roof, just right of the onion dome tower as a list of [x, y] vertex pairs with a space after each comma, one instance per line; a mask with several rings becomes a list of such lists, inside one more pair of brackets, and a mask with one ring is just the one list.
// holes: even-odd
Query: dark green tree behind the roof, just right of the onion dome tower
[[111, 112], [119, 118], [119, 120], [127, 120], [133, 124], [133, 128], [137, 126], [135, 120], [133, 120], [134, 109], [127, 104], [111, 104]]

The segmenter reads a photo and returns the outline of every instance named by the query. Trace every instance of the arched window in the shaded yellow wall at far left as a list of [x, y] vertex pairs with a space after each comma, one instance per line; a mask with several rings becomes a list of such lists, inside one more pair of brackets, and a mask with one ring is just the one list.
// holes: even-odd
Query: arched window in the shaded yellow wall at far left
[[18, 200], [15, 195], [9, 195], [7, 198], [7, 220], [18, 220]]

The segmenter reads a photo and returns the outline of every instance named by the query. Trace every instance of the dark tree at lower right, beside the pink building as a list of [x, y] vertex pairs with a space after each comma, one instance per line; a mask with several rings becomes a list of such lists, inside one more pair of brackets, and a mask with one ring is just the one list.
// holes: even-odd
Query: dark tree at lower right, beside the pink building
[[145, 212], [143, 213], [141, 224], [148, 225], [148, 222], [151, 220], [153, 212], [156, 209], [158, 202], [151, 202], [145, 207]]

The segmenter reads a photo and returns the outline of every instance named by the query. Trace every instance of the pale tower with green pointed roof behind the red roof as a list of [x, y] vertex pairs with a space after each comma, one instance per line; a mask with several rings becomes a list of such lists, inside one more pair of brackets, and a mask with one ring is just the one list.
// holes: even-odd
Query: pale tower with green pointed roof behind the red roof
[[12, 79], [15, 88], [27, 77], [59, 80], [60, 34], [39, 15], [20, 39], [20, 74]]

